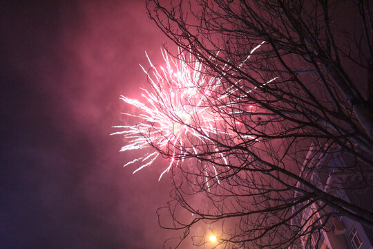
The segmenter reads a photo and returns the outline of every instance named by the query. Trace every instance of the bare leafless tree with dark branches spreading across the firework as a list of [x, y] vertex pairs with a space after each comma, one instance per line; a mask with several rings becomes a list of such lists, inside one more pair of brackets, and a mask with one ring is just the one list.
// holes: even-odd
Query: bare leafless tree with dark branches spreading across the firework
[[[200, 73], [215, 79], [204, 102], [188, 104], [219, 117], [214, 122], [222, 131], [209, 131], [199, 113], [186, 121], [164, 111], [200, 136], [166, 147], [149, 141], [183, 162], [171, 168], [175, 189], [165, 209], [173, 222], [161, 219], [162, 226], [184, 230], [182, 239], [191, 236], [199, 246], [205, 238], [193, 229], [219, 228], [224, 248], [296, 248], [339, 215], [373, 228], [372, 210], [312, 178], [359, 176], [333, 187], [371, 187], [370, 7], [368, 1], [147, 1], [151, 19], [180, 53], [192, 55], [175, 57], [192, 68], [195, 59]], [[335, 154], [351, 163], [327, 165]], [[305, 210], [307, 219], [297, 219]]]

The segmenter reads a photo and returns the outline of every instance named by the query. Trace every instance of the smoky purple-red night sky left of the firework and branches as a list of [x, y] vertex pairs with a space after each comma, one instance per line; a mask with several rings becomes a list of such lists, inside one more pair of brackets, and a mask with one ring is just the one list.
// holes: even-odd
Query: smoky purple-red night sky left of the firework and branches
[[144, 2], [1, 1], [0, 24], [0, 248], [161, 248], [162, 160], [132, 175], [109, 136], [167, 42]]

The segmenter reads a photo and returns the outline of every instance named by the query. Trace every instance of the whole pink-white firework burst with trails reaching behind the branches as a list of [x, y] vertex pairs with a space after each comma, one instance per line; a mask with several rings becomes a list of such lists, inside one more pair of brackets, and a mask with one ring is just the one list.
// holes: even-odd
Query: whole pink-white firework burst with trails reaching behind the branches
[[[238, 68], [241, 68], [252, 53], [260, 48], [262, 44], [264, 44], [264, 42], [252, 49], [249, 56]], [[164, 51], [162, 51], [162, 56], [164, 62], [166, 62], [166, 68], [162, 66], [156, 68], [151, 63], [151, 59], [149, 59], [147, 54], [146, 57], [153, 70], [149, 73], [140, 65], [144, 73], [148, 76], [149, 84], [152, 89], [151, 92], [146, 89], [141, 89], [143, 92], [142, 98], [144, 98], [145, 101], [140, 102], [139, 100], [126, 98], [123, 95], [120, 98], [127, 104], [131, 104], [133, 107], [140, 110], [139, 115], [122, 113], [126, 116], [138, 118], [140, 122], [132, 126], [115, 126], [115, 128], [122, 129], [122, 131], [111, 134], [122, 134], [124, 138], [129, 140], [120, 151], [146, 149], [149, 147], [167, 150], [171, 147], [171, 154], [173, 156], [170, 158], [169, 167], [160, 174], [160, 178], [162, 178], [166, 172], [169, 172], [174, 163], [178, 165], [180, 160], [184, 161], [184, 158], [187, 156], [193, 155], [198, 158], [198, 150], [190, 143], [191, 138], [197, 138], [204, 143], [206, 140], [212, 142], [216, 153], [221, 156], [221, 160], [228, 166], [227, 158], [224, 157], [224, 154], [218, 149], [213, 140], [210, 139], [210, 136], [211, 134], [237, 136], [237, 134], [229, 133], [217, 127], [216, 124], [224, 118], [218, 114], [213, 115], [213, 113], [216, 112], [209, 110], [209, 108], [213, 107], [214, 104], [218, 104], [224, 100], [224, 98], [229, 98], [229, 95], [238, 91], [242, 86], [235, 87], [238, 81], [236, 84], [229, 86], [228, 89], [220, 93], [220, 97], [216, 98], [216, 96], [211, 96], [211, 93], [216, 91], [219, 86], [222, 86], [221, 78], [207, 78], [204, 76], [204, 73], [202, 73], [202, 63], [198, 61], [193, 62], [193, 64], [188, 63], [187, 59], [182, 54], [177, 60], [170, 58]], [[192, 61], [192, 59], [193, 58], [190, 57], [189, 61]], [[193, 68], [191, 68], [191, 66], [193, 66]], [[226, 68], [226, 66], [227, 65], [224, 66], [223, 70], [229, 71], [231, 68]], [[276, 78], [269, 80], [262, 85], [269, 84], [269, 82], [275, 79]], [[256, 86], [254, 89], [257, 88]], [[251, 93], [254, 89], [247, 93]], [[247, 94], [242, 95], [242, 97], [245, 96], [247, 96]], [[235, 104], [236, 100], [239, 100], [239, 98], [240, 96], [237, 99], [228, 100], [224, 105], [218, 104], [218, 106], [227, 108], [229, 105]], [[248, 135], [246, 138], [258, 141], [254, 136]], [[186, 139], [187, 142], [184, 142], [184, 139]], [[188, 147], [191, 148], [191, 151]], [[133, 172], [133, 174], [135, 174], [135, 172], [140, 169], [151, 165], [159, 155], [160, 152], [157, 150], [151, 154], [147, 153], [144, 156], [140, 156], [126, 163], [124, 167], [141, 162], [142, 165], [137, 167]], [[178, 155], [178, 158], [175, 158], [176, 155]], [[213, 167], [213, 169], [216, 179], [218, 183], [220, 183], [216, 167]], [[207, 172], [205, 172], [205, 174], [207, 174]], [[208, 182], [207, 185], [209, 188]]]

